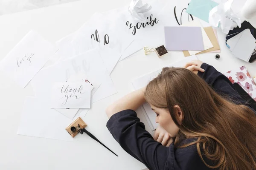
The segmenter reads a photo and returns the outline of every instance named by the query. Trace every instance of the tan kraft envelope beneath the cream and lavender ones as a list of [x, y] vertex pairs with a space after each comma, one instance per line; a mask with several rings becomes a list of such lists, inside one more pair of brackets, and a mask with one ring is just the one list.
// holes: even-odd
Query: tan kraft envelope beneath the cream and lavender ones
[[[218, 39], [215, 36], [213, 28], [212, 27], [205, 27], [204, 31], [206, 32], [206, 34], [208, 35], [210, 41], [212, 42], [213, 47], [209, 48], [207, 50], [201, 51], [201, 52], [199, 52], [197, 54], [204, 54], [204, 53], [213, 52], [213, 51], [217, 51], [218, 52], [218, 50], [220, 50], [221, 48], [220, 48], [220, 46], [218, 44]], [[191, 56], [189, 51], [183, 51], [183, 54], [184, 54], [185, 57]]]

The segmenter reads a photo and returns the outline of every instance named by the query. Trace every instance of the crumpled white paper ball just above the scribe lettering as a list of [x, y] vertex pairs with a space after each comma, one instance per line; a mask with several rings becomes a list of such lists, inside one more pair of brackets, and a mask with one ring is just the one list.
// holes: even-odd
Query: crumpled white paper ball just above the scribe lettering
[[148, 3], [143, 4], [142, 0], [131, 0], [128, 10], [137, 20], [146, 21], [145, 13], [151, 10], [151, 8]]

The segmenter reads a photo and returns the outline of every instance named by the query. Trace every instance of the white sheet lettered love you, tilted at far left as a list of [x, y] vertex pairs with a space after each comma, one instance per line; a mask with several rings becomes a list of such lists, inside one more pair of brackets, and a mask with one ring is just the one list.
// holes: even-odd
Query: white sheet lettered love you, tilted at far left
[[0, 62], [0, 69], [24, 88], [55, 51], [54, 45], [31, 30]]

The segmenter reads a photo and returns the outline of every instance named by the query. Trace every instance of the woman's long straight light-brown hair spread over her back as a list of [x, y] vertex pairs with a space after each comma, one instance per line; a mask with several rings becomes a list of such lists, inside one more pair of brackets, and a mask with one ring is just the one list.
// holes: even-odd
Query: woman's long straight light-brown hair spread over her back
[[[176, 147], [196, 144], [204, 164], [221, 170], [256, 169], [256, 115], [217, 94], [201, 77], [185, 68], [164, 68], [146, 87], [145, 99], [157, 108], [168, 109], [180, 128]], [[179, 105], [179, 122], [174, 106]], [[183, 139], [195, 142], [180, 145]], [[207, 160], [205, 160], [207, 158]], [[207, 162], [212, 164], [207, 164]]]

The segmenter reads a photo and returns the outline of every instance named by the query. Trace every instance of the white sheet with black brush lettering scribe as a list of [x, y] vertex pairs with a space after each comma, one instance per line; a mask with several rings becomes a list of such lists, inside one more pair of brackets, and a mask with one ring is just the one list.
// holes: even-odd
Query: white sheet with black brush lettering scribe
[[116, 12], [115, 15], [119, 15], [122, 24], [126, 26], [126, 30], [134, 37], [134, 41], [125, 49], [125, 53], [122, 54], [119, 61], [127, 58], [129, 55], [139, 51], [145, 46], [156, 48], [165, 43], [163, 32], [164, 24], [162, 18], [158, 17], [164, 5], [159, 1], [154, 1], [150, 5], [152, 9], [144, 14], [144, 16], [147, 17], [147, 21], [145, 22], [138, 21], [127, 9], [123, 11], [113, 11], [113, 13]]

